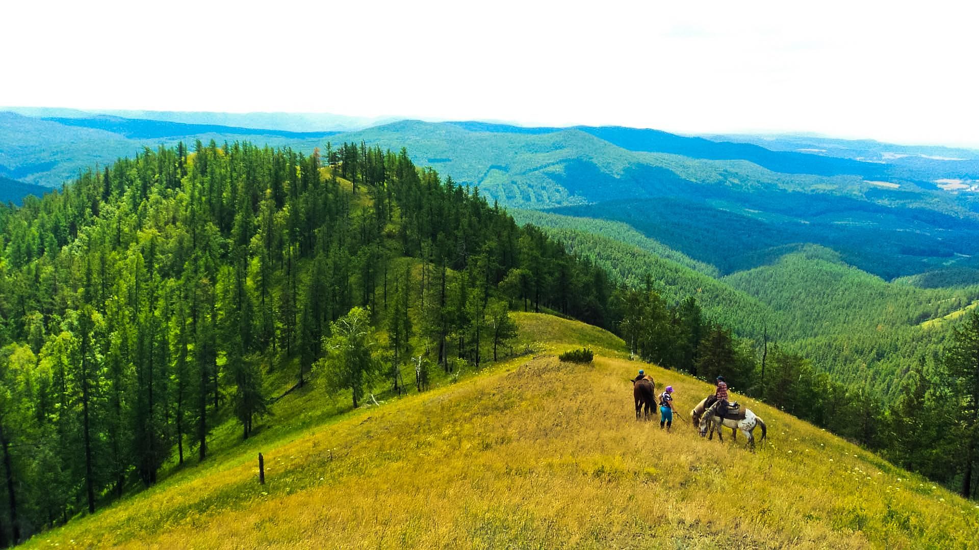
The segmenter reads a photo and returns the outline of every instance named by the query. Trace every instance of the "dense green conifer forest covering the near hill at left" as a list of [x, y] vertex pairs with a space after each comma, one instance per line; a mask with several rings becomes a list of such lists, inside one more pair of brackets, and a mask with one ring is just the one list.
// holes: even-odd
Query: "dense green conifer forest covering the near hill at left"
[[386, 333], [397, 389], [412, 355], [496, 355], [508, 301], [615, 324], [601, 269], [363, 144], [146, 149], [0, 208], [0, 252], [0, 546], [205, 460], [226, 419], [249, 436], [269, 371], [302, 385], [339, 321]]

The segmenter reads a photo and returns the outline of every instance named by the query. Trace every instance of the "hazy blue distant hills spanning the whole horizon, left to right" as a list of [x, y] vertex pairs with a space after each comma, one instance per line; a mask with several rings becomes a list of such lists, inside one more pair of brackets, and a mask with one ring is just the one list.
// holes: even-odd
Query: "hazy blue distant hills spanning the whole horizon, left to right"
[[[198, 139], [251, 140], [306, 153], [327, 140], [364, 142], [407, 147], [416, 163], [478, 186], [502, 206], [576, 206], [559, 213], [630, 223], [725, 274], [804, 243], [841, 252], [848, 263], [885, 279], [974, 267], [979, 261], [974, 259], [979, 214], [971, 211], [973, 194], [936, 188], [928, 179], [937, 177], [932, 173], [904, 179], [882, 175], [874, 170], [890, 164], [880, 162], [629, 128], [404, 120], [333, 134], [62, 115], [0, 116], [0, 175], [60, 185], [95, 163]], [[953, 170], [945, 177], [970, 173]], [[715, 238], [719, 232], [724, 240]]]

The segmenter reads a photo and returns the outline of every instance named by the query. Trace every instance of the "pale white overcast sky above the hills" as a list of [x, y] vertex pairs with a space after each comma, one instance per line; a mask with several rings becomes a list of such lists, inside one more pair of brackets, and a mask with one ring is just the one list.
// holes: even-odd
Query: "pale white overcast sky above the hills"
[[972, 2], [5, 2], [0, 105], [979, 148]]

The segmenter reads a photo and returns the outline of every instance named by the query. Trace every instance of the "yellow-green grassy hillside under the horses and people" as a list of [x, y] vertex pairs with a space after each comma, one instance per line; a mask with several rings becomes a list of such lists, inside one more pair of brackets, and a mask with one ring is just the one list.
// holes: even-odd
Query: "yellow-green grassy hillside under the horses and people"
[[[519, 318], [524, 338], [549, 345], [616, 343], [578, 323]], [[317, 412], [332, 399], [314, 379], [275, 405], [292, 429], [261, 432], [25, 547], [974, 544], [973, 503], [754, 401], [743, 400], [769, 431], [754, 454], [742, 436], [708, 441], [678, 419], [673, 433], [637, 424], [626, 380], [637, 366], [609, 355], [559, 363], [543, 351], [335, 416]], [[710, 390], [646, 368], [676, 388], [679, 409]]]

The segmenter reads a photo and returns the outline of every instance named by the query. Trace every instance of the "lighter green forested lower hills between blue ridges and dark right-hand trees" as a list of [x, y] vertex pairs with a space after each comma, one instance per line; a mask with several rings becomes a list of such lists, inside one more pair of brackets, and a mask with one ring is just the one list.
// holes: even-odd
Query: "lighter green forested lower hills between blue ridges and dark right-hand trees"
[[927, 320], [960, 314], [979, 297], [979, 286], [964, 284], [971, 273], [962, 274], [958, 286], [926, 288], [917, 286], [917, 278], [887, 282], [814, 245], [769, 251], [758, 267], [717, 278], [621, 222], [536, 210], [513, 214], [632, 287], [641, 288], [649, 277], [669, 303], [694, 297], [706, 318], [754, 345], [768, 334], [770, 342], [802, 353], [834, 380], [882, 395], [895, 394], [909, 365], [937, 356], [947, 344], [951, 325]]

